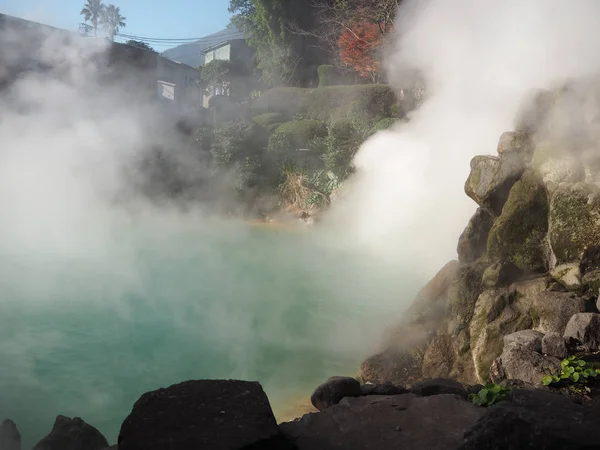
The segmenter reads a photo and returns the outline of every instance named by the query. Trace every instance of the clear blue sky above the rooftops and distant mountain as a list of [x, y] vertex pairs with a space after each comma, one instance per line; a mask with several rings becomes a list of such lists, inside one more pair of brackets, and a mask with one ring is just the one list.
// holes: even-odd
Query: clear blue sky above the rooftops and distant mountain
[[[127, 20], [122, 33], [157, 38], [196, 38], [229, 23], [229, 0], [104, 0], [121, 8]], [[85, 0], [0, 0], [0, 13], [58, 28], [77, 30]], [[158, 51], [172, 45], [151, 43]]]

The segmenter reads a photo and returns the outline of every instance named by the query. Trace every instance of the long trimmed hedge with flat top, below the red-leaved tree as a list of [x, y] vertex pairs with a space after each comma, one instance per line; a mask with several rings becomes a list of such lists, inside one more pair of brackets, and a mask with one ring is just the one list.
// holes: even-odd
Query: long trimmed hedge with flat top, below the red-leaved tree
[[[398, 99], [386, 84], [328, 86], [318, 89], [275, 88], [265, 92], [252, 107], [253, 114], [279, 113], [315, 120], [381, 120], [398, 110]], [[402, 109], [402, 108], [400, 108]]]

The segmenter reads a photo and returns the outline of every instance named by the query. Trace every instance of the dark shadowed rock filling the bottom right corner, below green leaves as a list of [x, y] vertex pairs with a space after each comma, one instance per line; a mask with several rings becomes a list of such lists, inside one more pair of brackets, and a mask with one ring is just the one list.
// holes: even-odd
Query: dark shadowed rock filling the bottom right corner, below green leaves
[[568, 396], [516, 389], [487, 408], [459, 450], [600, 448], [598, 418]]

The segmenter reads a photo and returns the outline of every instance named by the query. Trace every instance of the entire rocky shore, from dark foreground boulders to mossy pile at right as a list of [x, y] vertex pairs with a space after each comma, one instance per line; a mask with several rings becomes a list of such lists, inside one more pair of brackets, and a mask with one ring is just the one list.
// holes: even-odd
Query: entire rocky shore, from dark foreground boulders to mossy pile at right
[[[110, 448], [600, 448], [600, 114], [589, 120], [581, 105], [600, 105], [600, 92], [590, 89], [539, 92], [497, 156], [473, 158], [465, 192], [479, 208], [458, 260], [356, 379], [315, 390], [319, 412], [278, 425], [256, 382], [187, 381], [144, 394]], [[91, 425], [59, 416], [34, 450], [106, 448]], [[0, 450], [21, 450], [9, 420]]]

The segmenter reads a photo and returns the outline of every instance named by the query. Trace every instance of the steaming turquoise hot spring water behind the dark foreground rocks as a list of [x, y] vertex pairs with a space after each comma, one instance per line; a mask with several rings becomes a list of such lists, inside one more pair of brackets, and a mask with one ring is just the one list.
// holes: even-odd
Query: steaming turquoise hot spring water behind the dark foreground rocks
[[354, 373], [421, 284], [319, 232], [186, 220], [90, 233], [81, 251], [81, 236], [0, 242], [0, 419], [24, 448], [57, 414], [115, 443], [143, 392], [187, 379], [258, 380], [278, 412]]

